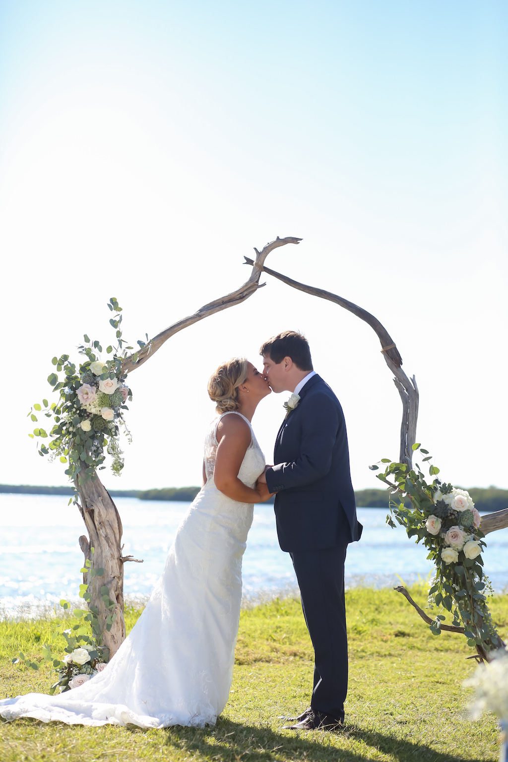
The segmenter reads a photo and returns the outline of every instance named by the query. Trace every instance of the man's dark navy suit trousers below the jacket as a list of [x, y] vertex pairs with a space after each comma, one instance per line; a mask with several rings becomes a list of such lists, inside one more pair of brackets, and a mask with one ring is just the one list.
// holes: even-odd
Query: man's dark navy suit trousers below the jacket
[[344, 561], [347, 545], [292, 552], [302, 610], [315, 651], [311, 707], [344, 719], [347, 694], [347, 632]]

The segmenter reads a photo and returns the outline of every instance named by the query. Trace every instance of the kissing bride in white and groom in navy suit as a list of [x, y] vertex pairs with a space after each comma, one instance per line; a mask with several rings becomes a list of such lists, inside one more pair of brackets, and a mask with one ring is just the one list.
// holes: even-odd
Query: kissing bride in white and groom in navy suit
[[[296, 571], [315, 651], [310, 706], [286, 728], [343, 724], [347, 693], [344, 560], [362, 526], [350, 478], [346, 425], [312, 370], [304, 336], [284, 331], [260, 348], [263, 373], [238, 357], [208, 393], [218, 418], [205, 441], [203, 487], [181, 520], [165, 571], [103, 671], [57, 696], [0, 701], [0, 716], [69, 725], [214, 725], [228, 700], [241, 604], [241, 558], [254, 503], [275, 495], [280, 547]], [[292, 392], [266, 466], [251, 427], [270, 392]]]

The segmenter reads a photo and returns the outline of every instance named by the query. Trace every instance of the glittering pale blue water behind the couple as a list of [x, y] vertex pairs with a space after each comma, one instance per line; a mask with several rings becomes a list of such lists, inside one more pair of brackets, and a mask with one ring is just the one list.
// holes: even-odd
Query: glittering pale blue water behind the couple
[[[69, 498], [60, 495], [0, 494], [0, 609], [12, 612], [43, 601], [76, 598], [83, 555], [78, 536], [85, 526]], [[126, 597], [150, 594], [163, 571], [174, 533], [188, 503], [116, 498], [123, 523]], [[426, 551], [400, 527], [385, 524], [385, 508], [359, 508], [363, 537], [349, 546], [346, 581], [375, 587], [427, 577]], [[508, 528], [487, 537], [484, 564], [497, 591], [508, 588]], [[243, 563], [244, 596], [296, 591], [291, 560], [276, 539], [272, 505], [254, 508]], [[2, 613], [0, 611], [0, 613]]]

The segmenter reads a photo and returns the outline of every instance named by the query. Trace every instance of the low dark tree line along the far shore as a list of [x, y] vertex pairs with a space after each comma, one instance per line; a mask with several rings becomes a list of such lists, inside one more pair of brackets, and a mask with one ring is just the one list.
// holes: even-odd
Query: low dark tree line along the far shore
[[[171, 500], [191, 502], [200, 487], [166, 487], [163, 489], [110, 489], [113, 498], [139, 498], [139, 500]], [[0, 484], [0, 492], [21, 495], [72, 495], [69, 487], [45, 487], [34, 485]], [[492, 513], [508, 508], [508, 489], [497, 487], [471, 487], [468, 489], [478, 511]], [[388, 508], [388, 492], [385, 489], [359, 489], [355, 492], [359, 508]], [[273, 502], [273, 499], [272, 501]]]

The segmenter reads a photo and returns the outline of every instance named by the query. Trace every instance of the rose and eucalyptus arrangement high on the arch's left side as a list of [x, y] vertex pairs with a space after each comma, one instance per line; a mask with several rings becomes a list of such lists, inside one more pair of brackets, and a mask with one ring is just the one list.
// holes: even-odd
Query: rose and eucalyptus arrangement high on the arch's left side
[[[43, 405], [34, 405], [28, 413], [34, 423], [38, 423], [36, 413], [53, 418], [49, 437], [40, 426], [29, 436], [40, 438], [38, 451], [41, 456], [50, 455], [52, 459], [59, 456], [62, 463], [69, 463], [65, 473], [72, 480], [78, 476], [84, 481], [94, 479], [97, 469], [105, 468], [102, 465], [104, 449], [112, 456], [113, 474], [119, 475], [123, 469], [120, 427], [131, 441], [123, 412], [129, 409], [125, 403], [127, 399], [132, 401], [133, 395], [126, 384], [123, 363], [133, 347], [126, 346], [126, 341], [121, 338], [122, 308], [117, 299], [111, 297], [107, 306], [111, 312], [116, 312], [110, 325], [116, 331], [117, 346], [107, 347], [106, 354], [110, 357], [101, 360], [100, 341], [91, 341], [85, 334], [85, 344], [78, 347], [85, 361], [79, 363], [78, 368], [69, 360], [68, 354], [53, 357], [56, 373], [48, 376], [48, 382], [53, 391], [59, 391], [58, 402], [50, 405], [43, 399]], [[146, 339], [148, 341], [148, 335]], [[138, 341], [138, 344], [140, 349], [147, 346], [145, 341]], [[133, 362], [137, 360], [138, 352], [135, 352]], [[64, 374], [62, 380], [57, 375], [60, 372]], [[46, 438], [50, 438], [47, 445]]]

